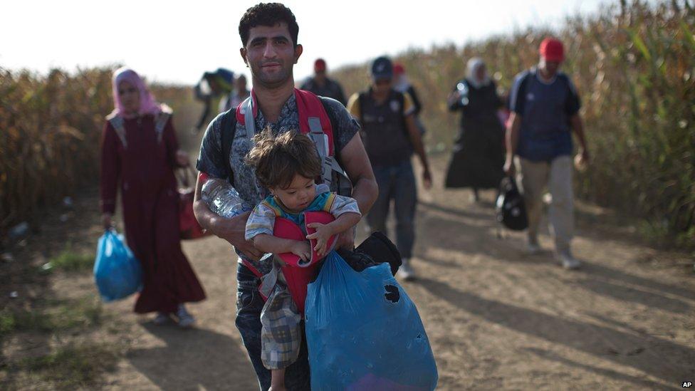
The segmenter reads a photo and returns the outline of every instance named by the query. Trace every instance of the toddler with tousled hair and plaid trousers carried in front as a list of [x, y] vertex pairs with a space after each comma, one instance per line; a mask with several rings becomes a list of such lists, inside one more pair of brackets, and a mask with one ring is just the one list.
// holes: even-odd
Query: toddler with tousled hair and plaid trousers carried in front
[[[340, 234], [360, 222], [357, 202], [330, 192], [325, 184], [316, 184], [321, 174], [321, 159], [309, 137], [296, 131], [277, 137], [268, 129], [256, 135], [256, 146], [246, 162], [256, 169], [258, 183], [270, 190], [246, 222], [246, 240], [253, 240], [256, 249], [271, 254], [295, 254], [304, 264], [312, 261], [312, 253], [323, 257], [330, 250], [331, 236]], [[309, 223], [304, 212], [328, 212], [335, 220], [328, 224]], [[307, 240], [283, 239], [273, 236], [276, 217], [289, 219], [304, 230]], [[305, 229], [315, 229], [307, 235]], [[281, 262], [281, 261], [280, 261]], [[278, 266], [263, 277], [261, 293], [267, 296], [261, 311], [261, 359], [271, 370], [272, 390], [284, 389], [285, 368], [294, 363], [302, 341], [301, 313], [294, 303], [285, 276], [278, 276]], [[267, 286], [266, 288], [266, 285]]]

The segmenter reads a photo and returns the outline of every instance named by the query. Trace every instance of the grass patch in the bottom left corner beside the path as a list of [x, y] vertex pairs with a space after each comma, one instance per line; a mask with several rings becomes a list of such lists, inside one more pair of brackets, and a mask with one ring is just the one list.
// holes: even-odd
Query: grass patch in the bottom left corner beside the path
[[118, 354], [108, 345], [85, 343], [66, 345], [46, 355], [23, 358], [7, 365], [16, 386], [23, 382], [61, 390], [94, 385], [104, 372], [115, 368]]

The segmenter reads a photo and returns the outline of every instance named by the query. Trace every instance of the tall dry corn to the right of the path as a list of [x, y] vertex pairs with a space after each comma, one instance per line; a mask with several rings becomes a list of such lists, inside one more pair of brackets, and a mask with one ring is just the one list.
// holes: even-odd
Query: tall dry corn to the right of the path
[[[462, 47], [403, 53], [402, 63], [422, 95], [431, 150], [450, 147], [458, 117], [446, 95], [465, 75], [466, 61], [483, 58], [501, 90], [538, 63], [548, 35], [565, 43], [563, 71], [582, 97], [590, 169], [577, 192], [602, 206], [647, 221], [656, 236], [695, 245], [695, 11], [691, 1], [647, 5], [621, 2], [568, 19], [560, 31], [528, 30]], [[334, 73], [346, 92], [365, 88], [367, 64]]]

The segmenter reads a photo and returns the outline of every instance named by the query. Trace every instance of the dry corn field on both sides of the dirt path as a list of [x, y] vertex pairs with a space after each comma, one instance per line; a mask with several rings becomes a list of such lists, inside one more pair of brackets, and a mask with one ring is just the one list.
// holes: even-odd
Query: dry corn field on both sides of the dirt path
[[[692, 1], [646, 4], [621, 1], [599, 13], [542, 28], [493, 36], [464, 46], [433, 46], [402, 53], [422, 95], [430, 150], [447, 150], [456, 115], [446, 95], [463, 77], [466, 61], [484, 58], [501, 90], [538, 62], [550, 34], [565, 43], [563, 70], [582, 97], [592, 153], [576, 176], [583, 199], [646, 221], [658, 237], [695, 246], [695, 11]], [[20, 221], [37, 221], [43, 207], [98, 180], [104, 115], [110, 113], [113, 68], [70, 75], [0, 68], [0, 236]], [[334, 73], [347, 93], [365, 88], [367, 64]], [[174, 108], [179, 134], [200, 111], [191, 89], [153, 86]], [[197, 137], [179, 137], [194, 151]], [[189, 142], [189, 145], [185, 145]], [[670, 241], [673, 242], [673, 241]]]

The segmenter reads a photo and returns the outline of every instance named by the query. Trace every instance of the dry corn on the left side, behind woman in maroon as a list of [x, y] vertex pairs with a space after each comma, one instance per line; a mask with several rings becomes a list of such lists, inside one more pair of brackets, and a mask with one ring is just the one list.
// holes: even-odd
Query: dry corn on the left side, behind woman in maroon
[[[42, 76], [0, 68], [0, 237], [21, 221], [38, 228], [45, 207], [98, 182], [114, 69]], [[174, 110], [180, 108], [174, 119], [188, 130], [193, 112], [200, 110], [191, 89], [155, 85], [152, 90]]]

